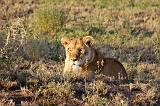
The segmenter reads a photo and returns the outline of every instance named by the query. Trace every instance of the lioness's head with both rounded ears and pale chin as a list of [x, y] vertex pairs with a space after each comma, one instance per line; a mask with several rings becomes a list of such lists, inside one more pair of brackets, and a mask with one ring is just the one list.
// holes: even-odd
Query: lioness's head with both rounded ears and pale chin
[[92, 48], [94, 43], [93, 37], [62, 38], [61, 43], [65, 47], [66, 58], [68, 58], [71, 65], [83, 66], [87, 62], [92, 61], [94, 57]]

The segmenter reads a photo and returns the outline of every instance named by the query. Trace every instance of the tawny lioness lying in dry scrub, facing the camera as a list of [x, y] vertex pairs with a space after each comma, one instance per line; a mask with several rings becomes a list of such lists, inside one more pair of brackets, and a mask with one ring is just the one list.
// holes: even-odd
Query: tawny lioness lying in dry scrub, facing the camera
[[93, 79], [95, 74], [101, 73], [115, 79], [127, 79], [123, 65], [113, 58], [104, 58], [94, 47], [91, 36], [69, 39], [62, 38], [66, 59], [63, 74]]

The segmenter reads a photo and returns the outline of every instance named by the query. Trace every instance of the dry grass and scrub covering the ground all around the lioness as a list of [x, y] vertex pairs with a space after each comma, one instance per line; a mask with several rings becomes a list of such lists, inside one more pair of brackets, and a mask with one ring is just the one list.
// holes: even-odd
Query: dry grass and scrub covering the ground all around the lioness
[[[60, 38], [85, 35], [129, 84], [64, 80]], [[160, 105], [160, 1], [0, 0], [0, 105]]]

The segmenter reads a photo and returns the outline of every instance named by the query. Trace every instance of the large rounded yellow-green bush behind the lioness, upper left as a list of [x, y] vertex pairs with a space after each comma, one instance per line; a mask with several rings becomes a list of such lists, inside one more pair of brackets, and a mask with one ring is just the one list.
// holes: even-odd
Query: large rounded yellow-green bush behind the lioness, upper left
[[50, 34], [62, 29], [66, 22], [66, 14], [63, 10], [54, 7], [54, 3], [44, 3], [33, 14], [32, 27], [36, 34]]

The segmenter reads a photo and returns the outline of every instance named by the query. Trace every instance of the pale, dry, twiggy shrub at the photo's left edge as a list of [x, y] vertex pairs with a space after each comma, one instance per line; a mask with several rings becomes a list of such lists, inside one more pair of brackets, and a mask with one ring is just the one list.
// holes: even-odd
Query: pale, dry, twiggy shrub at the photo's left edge
[[21, 57], [20, 51], [22, 46], [26, 43], [28, 36], [26, 30], [26, 24], [24, 19], [17, 19], [8, 24], [8, 27], [4, 27], [4, 32], [1, 37], [1, 48], [0, 48], [0, 67], [9, 68], [7, 65], [19, 61]]

